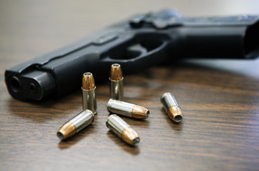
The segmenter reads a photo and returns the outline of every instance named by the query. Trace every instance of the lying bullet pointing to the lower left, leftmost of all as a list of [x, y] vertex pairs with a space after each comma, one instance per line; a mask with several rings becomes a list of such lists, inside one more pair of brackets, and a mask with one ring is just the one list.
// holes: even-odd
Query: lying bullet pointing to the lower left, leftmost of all
[[81, 131], [93, 121], [94, 113], [88, 109], [84, 110], [60, 127], [57, 132], [57, 136], [60, 140], [64, 140]]

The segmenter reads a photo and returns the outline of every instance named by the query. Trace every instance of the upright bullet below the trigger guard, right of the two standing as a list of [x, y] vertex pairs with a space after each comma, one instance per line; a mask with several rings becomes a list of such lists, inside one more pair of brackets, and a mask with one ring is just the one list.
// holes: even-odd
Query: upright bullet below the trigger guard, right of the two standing
[[117, 100], [123, 99], [123, 76], [121, 66], [112, 64], [110, 73], [110, 97]]

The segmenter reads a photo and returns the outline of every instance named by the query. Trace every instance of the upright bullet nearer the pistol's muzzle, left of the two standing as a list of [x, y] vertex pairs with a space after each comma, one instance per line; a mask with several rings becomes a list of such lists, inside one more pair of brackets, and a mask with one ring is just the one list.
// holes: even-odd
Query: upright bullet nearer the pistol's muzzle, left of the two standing
[[94, 77], [92, 73], [84, 73], [83, 80], [82, 80], [82, 103], [83, 103], [83, 110], [89, 109], [94, 113], [97, 113], [97, 104], [96, 104], [96, 95], [95, 95], [95, 83]]

